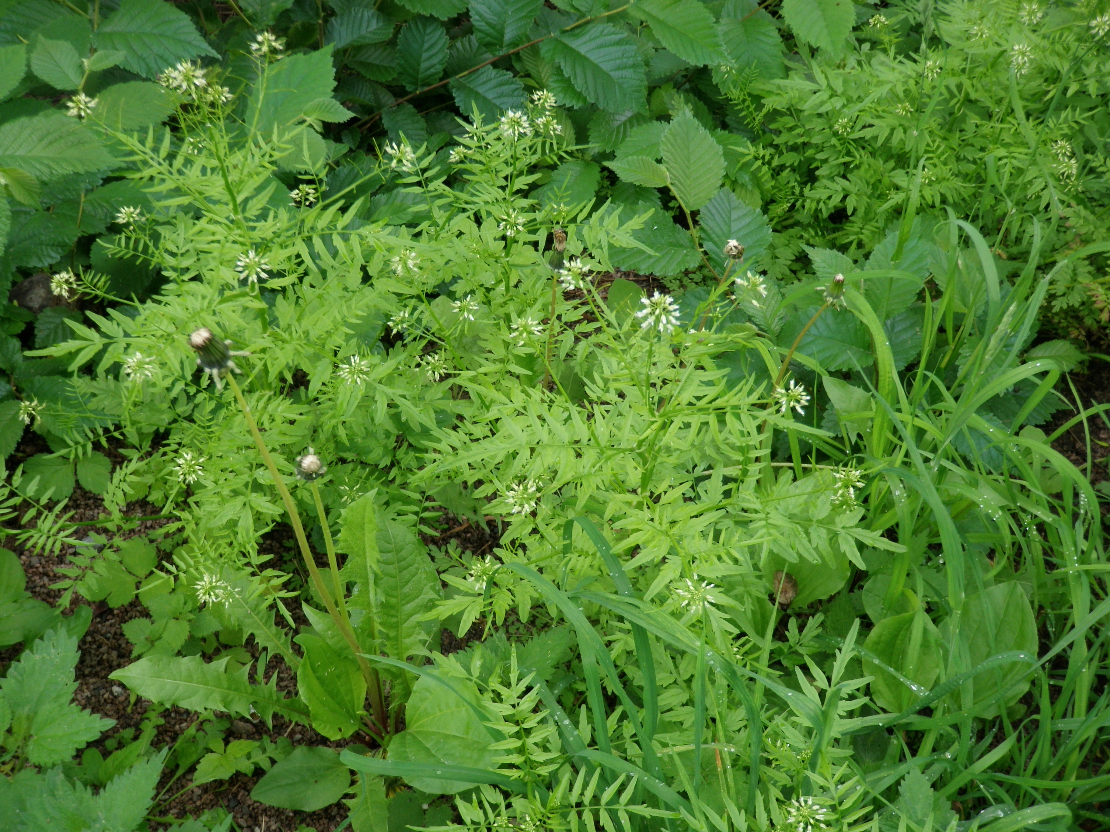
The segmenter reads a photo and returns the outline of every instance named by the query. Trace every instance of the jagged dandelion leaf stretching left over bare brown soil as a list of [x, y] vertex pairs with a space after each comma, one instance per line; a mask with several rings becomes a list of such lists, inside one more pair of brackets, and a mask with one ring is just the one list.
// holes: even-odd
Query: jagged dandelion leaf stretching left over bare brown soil
[[269, 723], [275, 713], [309, 724], [309, 710], [300, 699], [286, 699], [276, 687], [251, 684], [250, 666], [228, 670], [229, 657], [205, 662], [199, 656], [148, 656], [112, 672], [141, 697], [161, 704], [176, 704], [194, 711], [226, 711], [232, 717], [250, 717], [251, 708]]

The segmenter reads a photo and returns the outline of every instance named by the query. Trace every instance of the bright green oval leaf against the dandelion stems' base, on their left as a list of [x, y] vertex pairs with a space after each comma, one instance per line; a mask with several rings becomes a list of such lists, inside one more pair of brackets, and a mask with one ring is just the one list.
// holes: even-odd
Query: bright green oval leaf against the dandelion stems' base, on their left
[[350, 650], [336, 650], [309, 633], [296, 637], [304, 656], [296, 689], [309, 706], [312, 727], [330, 740], [345, 739], [362, 728], [366, 680]]

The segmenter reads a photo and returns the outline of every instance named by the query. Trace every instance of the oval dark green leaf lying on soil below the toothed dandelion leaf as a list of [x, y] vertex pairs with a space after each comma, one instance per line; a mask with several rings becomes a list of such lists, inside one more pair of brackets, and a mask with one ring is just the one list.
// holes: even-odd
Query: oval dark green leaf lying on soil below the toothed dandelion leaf
[[269, 806], [315, 812], [351, 788], [351, 770], [330, 748], [301, 745], [274, 764], [251, 790], [251, 800]]

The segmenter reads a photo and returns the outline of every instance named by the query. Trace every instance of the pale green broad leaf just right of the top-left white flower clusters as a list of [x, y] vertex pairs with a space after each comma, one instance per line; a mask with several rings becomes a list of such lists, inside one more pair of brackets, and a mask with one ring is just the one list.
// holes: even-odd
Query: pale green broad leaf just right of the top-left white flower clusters
[[332, 48], [292, 54], [266, 68], [265, 84], [256, 84], [248, 102], [246, 123], [269, 135], [287, 129], [314, 101], [331, 98], [335, 88]]

